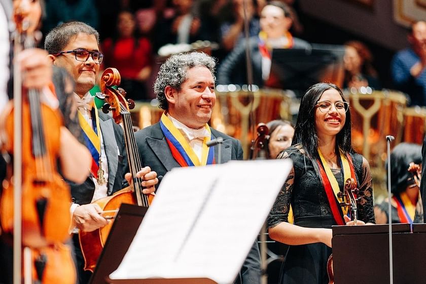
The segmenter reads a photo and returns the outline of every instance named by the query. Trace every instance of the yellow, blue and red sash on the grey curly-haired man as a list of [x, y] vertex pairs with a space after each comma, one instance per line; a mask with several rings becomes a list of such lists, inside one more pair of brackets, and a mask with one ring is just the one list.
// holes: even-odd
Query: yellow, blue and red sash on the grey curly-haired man
[[207, 142], [213, 139], [211, 130], [208, 125], [205, 125], [210, 137], [205, 137], [203, 140], [201, 162], [187, 142], [182, 133], [173, 125], [170, 118], [167, 117], [165, 112], [161, 115], [160, 127], [166, 138], [167, 144], [170, 147], [173, 158], [181, 165], [181, 167], [189, 166], [205, 166], [215, 164], [215, 148], [207, 147]]

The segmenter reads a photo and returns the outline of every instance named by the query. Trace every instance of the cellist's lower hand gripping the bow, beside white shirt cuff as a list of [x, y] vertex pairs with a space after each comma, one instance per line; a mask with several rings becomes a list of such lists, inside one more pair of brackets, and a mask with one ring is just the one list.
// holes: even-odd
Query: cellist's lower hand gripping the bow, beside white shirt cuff
[[109, 222], [100, 213], [102, 213], [102, 210], [97, 204], [80, 205], [74, 211], [73, 222], [81, 231], [91, 232], [102, 228]]

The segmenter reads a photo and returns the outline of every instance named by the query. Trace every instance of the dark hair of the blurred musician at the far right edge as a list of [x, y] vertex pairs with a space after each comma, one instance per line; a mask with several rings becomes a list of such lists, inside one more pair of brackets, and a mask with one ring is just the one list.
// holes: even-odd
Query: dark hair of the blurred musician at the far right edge
[[408, 172], [410, 163], [421, 164], [421, 146], [413, 143], [400, 143], [390, 153], [390, 191], [400, 194], [405, 191], [409, 178], [413, 174]]

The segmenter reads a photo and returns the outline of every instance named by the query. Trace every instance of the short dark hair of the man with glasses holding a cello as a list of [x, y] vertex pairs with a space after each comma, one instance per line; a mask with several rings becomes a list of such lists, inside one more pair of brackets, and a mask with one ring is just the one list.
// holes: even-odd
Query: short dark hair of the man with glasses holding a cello
[[59, 53], [68, 45], [69, 40], [79, 33], [93, 34], [99, 45], [99, 33], [94, 28], [83, 22], [71, 21], [62, 23], [49, 31], [45, 39], [45, 50], [49, 54]]

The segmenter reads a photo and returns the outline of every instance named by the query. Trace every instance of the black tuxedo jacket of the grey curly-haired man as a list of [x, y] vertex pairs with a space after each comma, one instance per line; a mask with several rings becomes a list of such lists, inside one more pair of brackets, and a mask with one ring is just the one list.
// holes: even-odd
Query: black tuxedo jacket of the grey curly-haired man
[[[223, 138], [222, 145], [215, 147], [216, 163], [226, 163], [229, 160], [242, 160], [241, 143], [215, 129], [211, 129], [213, 139]], [[180, 167], [177, 161], [171, 155], [170, 148], [161, 130], [160, 123], [144, 128], [135, 133], [135, 140], [139, 149], [141, 163], [143, 166], [151, 167], [152, 171], [156, 171], [158, 176], [164, 176], [172, 168]], [[218, 159], [219, 147], [221, 148], [221, 161]], [[158, 185], [157, 185], [158, 186]], [[257, 241], [253, 244], [250, 253], [248, 253], [241, 271], [235, 280], [236, 284], [260, 284], [261, 268], [260, 253]]]

